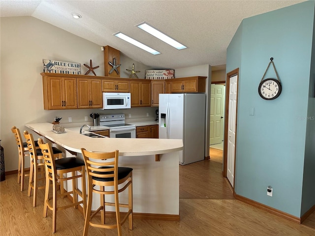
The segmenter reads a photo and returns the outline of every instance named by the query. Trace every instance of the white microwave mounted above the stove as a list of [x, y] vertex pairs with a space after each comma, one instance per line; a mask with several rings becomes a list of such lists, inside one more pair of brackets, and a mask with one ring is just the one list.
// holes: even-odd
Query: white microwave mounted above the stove
[[103, 109], [131, 108], [130, 92], [103, 92]]

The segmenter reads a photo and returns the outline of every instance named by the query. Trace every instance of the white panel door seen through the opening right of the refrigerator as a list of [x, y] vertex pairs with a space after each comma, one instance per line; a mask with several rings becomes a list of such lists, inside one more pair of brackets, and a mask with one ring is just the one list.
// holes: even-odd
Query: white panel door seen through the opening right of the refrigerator
[[224, 85], [211, 85], [210, 96], [210, 145], [221, 144], [224, 128]]

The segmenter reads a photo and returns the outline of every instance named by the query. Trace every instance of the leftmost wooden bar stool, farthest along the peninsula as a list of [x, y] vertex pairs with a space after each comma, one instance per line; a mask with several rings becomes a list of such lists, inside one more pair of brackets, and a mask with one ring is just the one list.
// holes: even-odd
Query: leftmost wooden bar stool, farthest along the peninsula
[[[29, 173], [25, 171], [25, 157], [29, 156], [29, 148], [27, 147], [27, 143], [22, 141], [22, 136], [20, 130], [16, 126], [12, 126], [11, 128], [12, 133], [15, 137], [15, 142], [18, 146], [19, 152], [19, 164], [18, 164], [18, 183], [21, 185], [21, 191], [24, 190], [24, 177], [29, 176]], [[35, 142], [36, 148], [38, 147], [37, 141]]]

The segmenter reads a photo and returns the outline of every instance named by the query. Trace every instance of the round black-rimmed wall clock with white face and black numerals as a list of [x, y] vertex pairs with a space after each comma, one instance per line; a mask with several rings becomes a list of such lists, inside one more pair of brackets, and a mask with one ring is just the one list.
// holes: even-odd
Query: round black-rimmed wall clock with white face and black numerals
[[266, 100], [272, 100], [279, 97], [282, 87], [276, 79], [265, 79], [260, 82], [258, 87], [259, 95]]

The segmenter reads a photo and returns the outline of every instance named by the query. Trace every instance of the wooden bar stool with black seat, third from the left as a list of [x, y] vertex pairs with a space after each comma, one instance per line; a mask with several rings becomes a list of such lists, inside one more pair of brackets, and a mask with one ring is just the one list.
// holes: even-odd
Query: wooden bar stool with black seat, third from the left
[[[55, 160], [53, 157], [53, 150], [50, 143], [44, 144], [42, 139], [38, 139], [39, 148], [42, 151], [45, 163], [46, 172], [46, 187], [45, 187], [45, 203], [44, 203], [44, 214], [47, 216], [47, 209], [53, 211], [53, 233], [56, 232], [57, 228], [57, 210], [63, 210], [65, 208], [74, 207], [77, 208], [79, 204], [83, 204], [83, 215], [85, 215], [86, 210], [86, 187], [85, 187], [85, 165], [82, 160], [76, 157], [66, 157]], [[79, 175], [76, 175], [80, 172]], [[63, 174], [72, 173], [70, 177], [63, 177]], [[82, 177], [82, 191], [77, 188], [77, 179]], [[57, 182], [62, 182], [72, 179], [72, 190], [57, 194]], [[49, 186], [50, 181], [52, 181], [53, 191], [52, 197], [49, 198]], [[72, 204], [57, 207], [57, 198], [67, 196], [69, 194], [73, 195]], [[78, 195], [82, 198], [82, 201], [78, 201]], [[52, 203], [51, 203], [52, 200]]]

